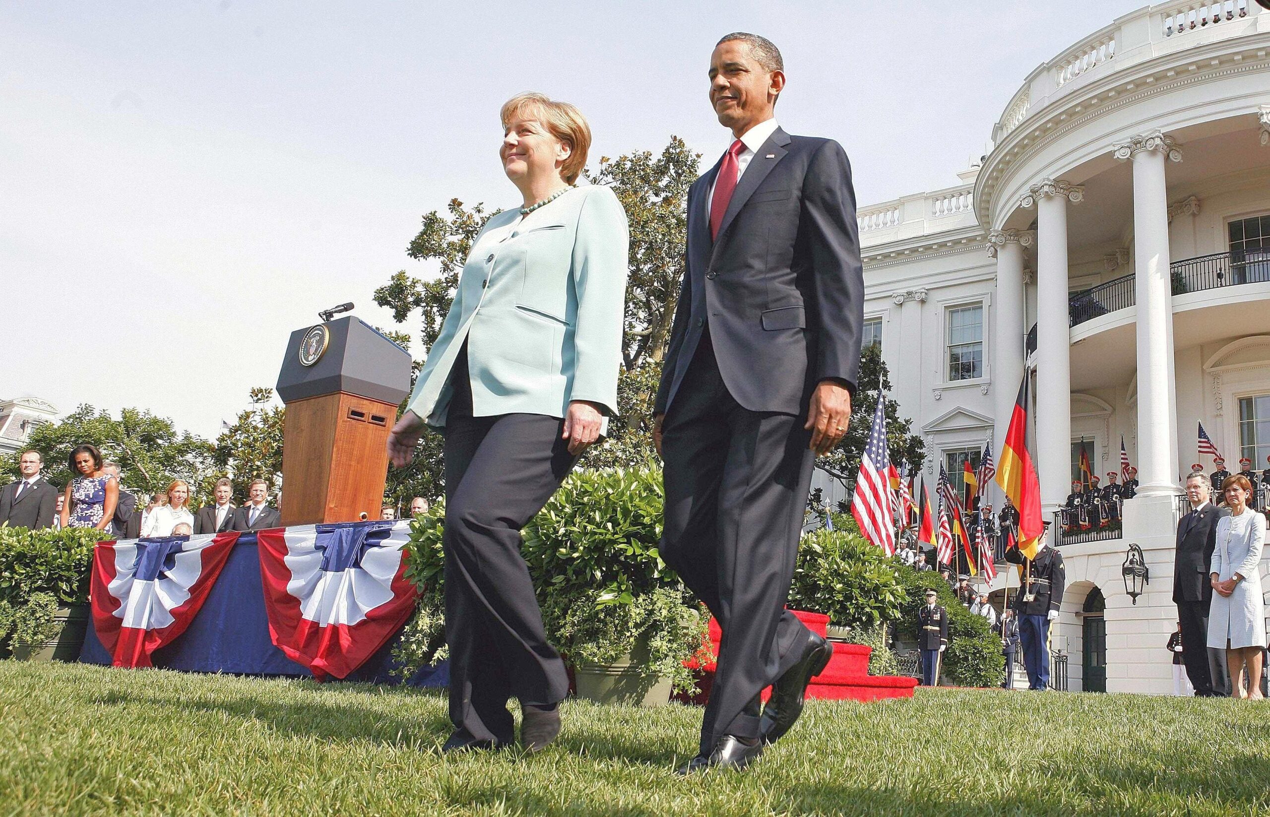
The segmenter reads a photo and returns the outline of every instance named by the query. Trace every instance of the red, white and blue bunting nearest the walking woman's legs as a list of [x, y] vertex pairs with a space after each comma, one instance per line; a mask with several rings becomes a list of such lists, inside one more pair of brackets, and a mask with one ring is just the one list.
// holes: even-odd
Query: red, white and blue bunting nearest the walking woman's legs
[[414, 611], [401, 550], [409, 536], [409, 520], [260, 531], [273, 643], [319, 680], [362, 666]]

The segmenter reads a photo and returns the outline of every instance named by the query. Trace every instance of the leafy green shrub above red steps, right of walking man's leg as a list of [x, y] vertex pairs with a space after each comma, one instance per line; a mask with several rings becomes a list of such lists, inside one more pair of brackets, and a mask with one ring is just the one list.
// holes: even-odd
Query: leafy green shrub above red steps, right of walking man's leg
[[789, 606], [823, 612], [841, 626], [894, 621], [904, 598], [897, 567], [859, 534], [823, 527], [810, 531], [799, 543]]

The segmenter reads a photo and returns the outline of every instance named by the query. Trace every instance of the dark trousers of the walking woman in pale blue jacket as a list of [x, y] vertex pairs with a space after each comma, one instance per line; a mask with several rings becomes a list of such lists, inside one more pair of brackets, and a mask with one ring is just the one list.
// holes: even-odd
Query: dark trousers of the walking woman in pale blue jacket
[[[462, 375], [466, 382], [466, 371]], [[560, 440], [560, 418], [471, 417], [470, 407], [470, 396], [456, 394], [446, 418], [450, 719], [475, 739], [511, 743], [511, 698], [546, 705], [569, 691], [521, 557], [521, 529], [577, 457]]]

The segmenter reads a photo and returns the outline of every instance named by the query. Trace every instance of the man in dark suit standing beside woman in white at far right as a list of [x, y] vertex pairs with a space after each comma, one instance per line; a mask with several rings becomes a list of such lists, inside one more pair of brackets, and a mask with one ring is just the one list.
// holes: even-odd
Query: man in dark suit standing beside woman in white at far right
[[1186, 478], [1190, 512], [1177, 523], [1173, 555], [1173, 604], [1181, 624], [1182, 661], [1196, 698], [1213, 698], [1213, 667], [1208, 651], [1208, 607], [1213, 601], [1209, 567], [1217, 545], [1217, 520], [1228, 513], [1209, 501], [1210, 480], [1203, 471]]

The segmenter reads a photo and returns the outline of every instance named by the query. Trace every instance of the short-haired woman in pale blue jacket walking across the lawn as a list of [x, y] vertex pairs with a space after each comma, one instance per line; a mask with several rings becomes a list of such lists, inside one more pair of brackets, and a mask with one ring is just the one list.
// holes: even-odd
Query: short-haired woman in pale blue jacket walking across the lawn
[[626, 294], [626, 213], [607, 187], [577, 187], [591, 128], [541, 94], [503, 105], [503, 170], [525, 205], [493, 216], [472, 241], [453, 305], [389, 437], [398, 468], [425, 426], [444, 433], [444, 751], [560, 732], [569, 687], [547, 643], [521, 558], [521, 529], [617, 410]]

